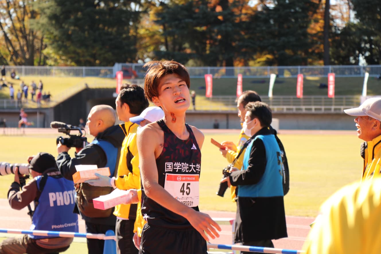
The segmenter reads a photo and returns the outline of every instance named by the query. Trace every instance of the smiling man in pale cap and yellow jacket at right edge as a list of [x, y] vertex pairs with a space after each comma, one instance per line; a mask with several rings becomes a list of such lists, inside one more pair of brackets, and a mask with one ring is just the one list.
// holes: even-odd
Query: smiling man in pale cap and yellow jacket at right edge
[[369, 98], [358, 108], [344, 109], [355, 116], [357, 137], [365, 142], [361, 144], [360, 154], [364, 159], [362, 180], [380, 175], [381, 166], [381, 98]]

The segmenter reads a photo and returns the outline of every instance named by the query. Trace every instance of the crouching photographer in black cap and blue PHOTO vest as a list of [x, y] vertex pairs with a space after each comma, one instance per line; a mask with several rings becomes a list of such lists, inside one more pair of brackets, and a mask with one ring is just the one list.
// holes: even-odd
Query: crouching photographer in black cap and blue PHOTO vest
[[[53, 155], [39, 153], [29, 166], [33, 179], [22, 187], [18, 169], [8, 191], [12, 209], [21, 210], [34, 201], [30, 230], [78, 232], [78, 215], [73, 214], [75, 190], [73, 183], [60, 174]], [[19, 235], [0, 244], [0, 253], [53, 253], [69, 248], [73, 238], [56, 236]]]

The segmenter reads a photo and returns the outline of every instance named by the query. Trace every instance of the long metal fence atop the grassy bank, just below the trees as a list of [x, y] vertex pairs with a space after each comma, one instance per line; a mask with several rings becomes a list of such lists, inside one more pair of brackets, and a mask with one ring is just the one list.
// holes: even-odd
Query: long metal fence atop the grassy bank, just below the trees
[[[117, 71], [122, 69], [133, 70], [136, 78], [144, 78], [146, 68], [143, 64], [115, 63], [113, 67], [70, 67], [70, 66], [6, 66], [6, 72], [12, 70], [19, 76], [62, 76], [62, 77], [109, 77], [114, 78]], [[236, 78], [242, 74], [243, 78], [268, 78], [271, 73], [278, 77], [297, 77], [303, 74], [309, 77], [327, 77], [328, 73], [335, 73], [336, 77], [363, 77], [365, 72], [371, 77], [381, 75], [381, 65], [331, 65], [331, 66], [263, 66], [263, 67], [188, 67], [191, 78], [203, 78], [205, 74], [212, 74], [215, 78]]]

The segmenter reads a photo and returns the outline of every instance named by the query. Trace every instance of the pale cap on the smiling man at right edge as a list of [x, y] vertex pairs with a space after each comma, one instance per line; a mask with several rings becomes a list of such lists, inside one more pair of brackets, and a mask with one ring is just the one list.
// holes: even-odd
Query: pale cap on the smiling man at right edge
[[381, 98], [369, 98], [358, 108], [344, 109], [349, 116], [370, 116], [381, 121]]

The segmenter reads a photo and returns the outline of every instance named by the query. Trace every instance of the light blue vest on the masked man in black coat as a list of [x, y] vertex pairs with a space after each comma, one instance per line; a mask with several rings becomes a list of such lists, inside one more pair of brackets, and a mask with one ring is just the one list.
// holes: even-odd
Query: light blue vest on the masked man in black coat
[[[277, 140], [274, 135], [258, 135], [254, 140], [257, 138], [260, 138], [264, 143], [266, 169], [258, 183], [239, 185], [238, 196], [250, 198], [283, 196], [282, 158]], [[247, 169], [249, 166], [248, 162], [254, 140], [247, 146], [241, 170]]]

